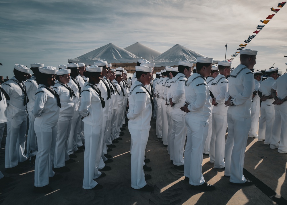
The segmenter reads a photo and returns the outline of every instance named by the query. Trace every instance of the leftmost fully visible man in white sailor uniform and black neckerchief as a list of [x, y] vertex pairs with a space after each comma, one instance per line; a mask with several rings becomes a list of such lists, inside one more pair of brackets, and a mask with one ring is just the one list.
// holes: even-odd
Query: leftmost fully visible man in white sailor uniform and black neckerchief
[[29, 102], [24, 80], [29, 68], [15, 64], [14, 76], [2, 84], [10, 100], [7, 100], [7, 137], [5, 148], [5, 167], [7, 173], [17, 173], [18, 163], [27, 160], [24, 154], [27, 130], [27, 102]]

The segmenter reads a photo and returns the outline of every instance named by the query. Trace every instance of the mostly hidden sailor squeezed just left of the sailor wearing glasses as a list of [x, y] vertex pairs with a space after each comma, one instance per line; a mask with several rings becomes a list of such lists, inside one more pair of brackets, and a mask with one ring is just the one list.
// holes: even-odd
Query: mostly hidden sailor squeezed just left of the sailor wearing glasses
[[[218, 76], [218, 74], [219, 74], [218, 67], [212, 66], [211, 74], [210, 74], [210, 76], [208, 76], [206, 78], [206, 82], [207, 82], [209, 87], [211, 86], [214, 78], [216, 78], [216, 76]], [[210, 98], [209, 102], [210, 102], [210, 108], [212, 111], [213, 105], [212, 105], [212, 99], [211, 98]], [[205, 154], [205, 155], [208, 155], [210, 153], [210, 146], [214, 147], [215, 142], [211, 142], [211, 137], [212, 137], [212, 113], [208, 118], [208, 135], [207, 135], [207, 138], [205, 141], [205, 146], [204, 146], [204, 151], [203, 151], [203, 154]]]

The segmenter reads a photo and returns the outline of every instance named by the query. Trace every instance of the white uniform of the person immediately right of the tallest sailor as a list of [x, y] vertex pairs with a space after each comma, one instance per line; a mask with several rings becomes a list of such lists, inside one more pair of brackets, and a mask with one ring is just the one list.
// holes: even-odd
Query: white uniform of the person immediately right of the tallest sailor
[[256, 79], [254, 79], [254, 83], [255, 83], [254, 91], [256, 91], [257, 93], [252, 99], [251, 104], [251, 128], [249, 131], [249, 137], [258, 138], [256, 132], [258, 131], [258, 120], [260, 115], [260, 97], [258, 95], [258, 89], [260, 87], [260, 83]]

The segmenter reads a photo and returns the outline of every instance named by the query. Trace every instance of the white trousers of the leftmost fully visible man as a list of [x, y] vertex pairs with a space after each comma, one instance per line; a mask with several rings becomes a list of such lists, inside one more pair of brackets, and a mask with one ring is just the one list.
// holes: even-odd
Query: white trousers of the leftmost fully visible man
[[5, 167], [12, 168], [19, 162], [27, 160], [25, 156], [25, 142], [27, 131], [27, 115], [7, 116], [7, 137], [5, 148]]

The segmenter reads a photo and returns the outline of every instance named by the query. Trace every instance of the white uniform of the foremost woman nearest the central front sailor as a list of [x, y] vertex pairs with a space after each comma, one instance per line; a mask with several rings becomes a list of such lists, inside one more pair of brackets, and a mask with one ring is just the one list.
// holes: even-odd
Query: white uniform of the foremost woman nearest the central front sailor
[[[88, 69], [87, 69], [88, 71]], [[84, 116], [85, 152], [83, 188], [92, 189], [98, 183], [93, 179], [102, 173], [96, 169], [102, 156], [103, 108], [96, 86], [86, 82], [82, 91], [80, 114]], [[94, 88], [96, 90], [94, 90]]]

